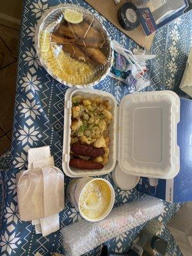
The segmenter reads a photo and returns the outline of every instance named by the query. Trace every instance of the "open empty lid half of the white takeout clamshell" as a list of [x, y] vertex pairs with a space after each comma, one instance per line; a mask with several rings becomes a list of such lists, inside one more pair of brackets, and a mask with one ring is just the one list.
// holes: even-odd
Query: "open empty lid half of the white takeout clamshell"
[[172, 179], [179, 172], [180, 100], [171, 91], [125, 96], [118, 116], [118, 164], [129, 175]]

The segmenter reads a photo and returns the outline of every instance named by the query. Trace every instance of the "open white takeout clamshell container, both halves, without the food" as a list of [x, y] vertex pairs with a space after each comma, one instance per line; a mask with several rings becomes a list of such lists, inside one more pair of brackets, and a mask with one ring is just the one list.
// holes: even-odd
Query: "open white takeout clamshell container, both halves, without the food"
[[[70, 125], [72, 97], [103, 97], [112, 106], [109, 125], [109, 161], [102, 170], [70, 168]], [[141, 92], [126, 95], [117, 106], [108, 92], [93, 89], [68, 89], [65, 94], [63, 133], [63, 171], [70, 177], [110, 173], [118, 168], [130, 175], [172, 179], [179, 172], [177, 124], [180, 100], [171, 91]]]

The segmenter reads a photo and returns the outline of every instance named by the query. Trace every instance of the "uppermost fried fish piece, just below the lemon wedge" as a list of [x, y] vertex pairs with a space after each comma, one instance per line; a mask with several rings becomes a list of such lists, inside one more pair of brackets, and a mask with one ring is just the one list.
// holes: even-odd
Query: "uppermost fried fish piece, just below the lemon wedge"
[[80, 42], [83, 40], [86, 44], [84, 46], [88, 46], [87, 44], [94, 44], [94, 46], [100, 48], [105, 42], [103, 33], [97, 31], [97, 29], [93, 28], [93, 26], [87, 22], [81, 22], [80, 24], [64, 23], [58, 27], [56, 33], [69, 38], [76, 38], [77, 41], [81, 38]]

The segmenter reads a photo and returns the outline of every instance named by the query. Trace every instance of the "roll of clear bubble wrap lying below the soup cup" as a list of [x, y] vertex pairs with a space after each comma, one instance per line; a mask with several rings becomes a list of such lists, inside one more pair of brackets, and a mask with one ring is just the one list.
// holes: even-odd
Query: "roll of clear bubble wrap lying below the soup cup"
[[163, 212], [163, 202], [147, 196], [130, 204], [116, 207], [102, 221], [78, 221], [61, 230], [67, 256], [79, 256]]

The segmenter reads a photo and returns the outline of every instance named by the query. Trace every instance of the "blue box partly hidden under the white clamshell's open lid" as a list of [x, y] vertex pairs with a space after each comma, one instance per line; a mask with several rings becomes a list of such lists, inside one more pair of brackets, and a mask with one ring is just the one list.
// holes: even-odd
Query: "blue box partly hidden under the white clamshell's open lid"
[[180, 147], [180, 171], [174, 179], [141, 177], [139, 191], [168, 202], [192, 201], [192, 100], [180, 98], [180, 122], [177, 144]]

